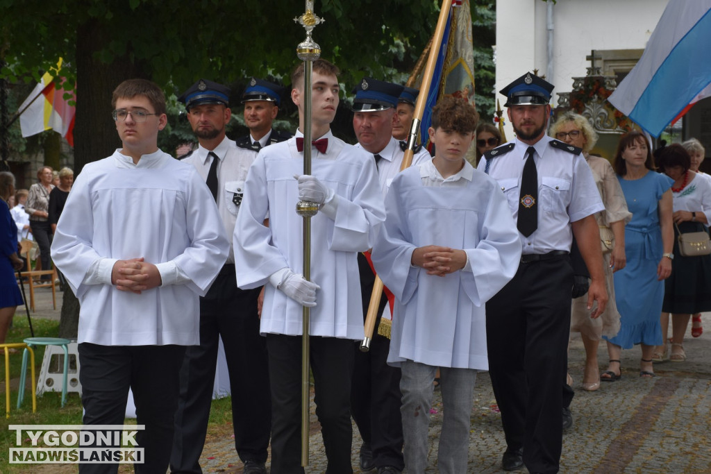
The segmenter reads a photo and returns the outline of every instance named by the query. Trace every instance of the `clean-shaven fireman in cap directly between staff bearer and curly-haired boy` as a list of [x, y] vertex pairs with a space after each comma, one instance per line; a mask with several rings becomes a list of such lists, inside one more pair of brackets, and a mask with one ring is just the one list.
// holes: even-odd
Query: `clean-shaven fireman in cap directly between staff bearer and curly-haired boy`
[[[358, 148], [368, 151], [378, 168], [378, 180], [383, 198], [392, 178], [400, 173], [405, 151], [392, 136], [393, 117], [402, 86], [365, 77], [355, 88], [353, 99], [353, 131]], [[419, 147], [421, 148], [421, 147]], [[412, 156], [412, 165], [431, 159], [427, 151], [419, 149]], [[363, 253], [358, 254], [360, 292], [363, 316], [368, 312], [375, 275]], [[383, 309], [387, 298], [383, 293], [378, 307], [378, 318], [369, 352], [360, 352], [357, 345], [351, 384], [351, 415], [358, 426], [363, 445], [360, 446], [360, 468], [378, 473], [397, 474], [405, 466], [402, 456], [402, 417], [400, 405], [400, 368], [387, 365], [390, 350], [390, 308]], [[380, 333], [378, 330], [380, 329]]]

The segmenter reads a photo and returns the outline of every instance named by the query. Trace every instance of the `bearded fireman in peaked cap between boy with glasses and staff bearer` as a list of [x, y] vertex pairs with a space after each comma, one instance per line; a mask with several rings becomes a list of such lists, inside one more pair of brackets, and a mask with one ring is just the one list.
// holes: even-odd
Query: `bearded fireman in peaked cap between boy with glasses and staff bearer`
[[[235, 230], [247, 171], [256, 153], [240, 149], [225, 136], [232, 112], [228, 87], [198, 80], [180, 98], [198, 137], [198, 149], [183, 159], [205, 179], [218, 205], [228, 235]], [[231, 242], [231, 241], [230, 241]], [[200, 345], [186, 351], [175, 416], [171, 472], [201, 473], [200, 455], [210, 415], [218, 340], [222, 338], [230, 373], [235, 448], [245, 474], [266, 474], [271, 433], [271, 400], [267, 348], [260, 335], [257, 296], [260, 288], [237, 288], [235, 254], [230, 256], [210, 291], [200, 298]], [[245, 386], [247, 382], [247, 386]], [[250, 409], [245, 410], [244, 407]]]

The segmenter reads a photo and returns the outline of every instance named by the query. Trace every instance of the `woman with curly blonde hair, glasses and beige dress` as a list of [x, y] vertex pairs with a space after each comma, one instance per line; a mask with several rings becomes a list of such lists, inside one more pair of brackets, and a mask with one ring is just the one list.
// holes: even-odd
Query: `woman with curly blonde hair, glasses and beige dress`
[[[616, 335], [620, 328], [620, 314], [615, 303], [612, 274], [614, 271], [624, 269], [626, 265], [624, 226], [632, 215], [627, 210], [622, 188], [609, 161], [589, 154], [597, 142], [597, 133], [585, 117], [574, 112], [565, 112], [550, 127], [550, 136], [582, 149], [605, 205], [605, 210], [598, 212], [595, 219], [601, 229], [601, 247], [604, 248], [602, 266], [609, 300], [602, 315], [592, 319], [587, 309], [587, 293], [574, 298], [570, 317], [570, 332], [580, 333], [585, 348], [582, 389], [594, 392], [600, 387], [597, 362], [600, 340], [603, 335], [608, 337]], [[602, 235], [603, 232], [605, 235]], [[610, 234], [614, 235], [614, 239], [609, 238]]]

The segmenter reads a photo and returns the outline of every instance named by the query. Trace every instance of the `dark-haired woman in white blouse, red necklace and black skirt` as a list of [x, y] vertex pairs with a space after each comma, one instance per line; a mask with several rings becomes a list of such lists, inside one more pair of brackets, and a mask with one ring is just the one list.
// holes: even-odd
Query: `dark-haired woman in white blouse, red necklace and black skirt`
[[[691, 169], [688, 151], [679, 145], [666, 146], [659, 154], [659, 168], [674, 180], [672, 185], [675, 237], [679, 232], [706, 232], [711, 222], [711, 183]], [[711, 255], [683, 257], [674, 239], [672, 274], [664, 282], [661, 325], [667, 340], [669, 314], [672, 314], [671, 352], [668, 345], [656, 348], [654, 359], [662, 362], [686, 360], [683, 339], [692, 313], [711, 311]]]

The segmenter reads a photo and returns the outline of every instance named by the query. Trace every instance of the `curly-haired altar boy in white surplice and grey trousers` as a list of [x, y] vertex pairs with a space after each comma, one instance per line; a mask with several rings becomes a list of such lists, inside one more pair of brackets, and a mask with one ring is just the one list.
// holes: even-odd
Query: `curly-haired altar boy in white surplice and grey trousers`
[[436, 156], [402, 171], [385, 198], [373, 263], [395, 294], [390, 354], [400, 366], [405, 465], [427, 468], [432, 382], [441, 369], [442, 473], [467, 468], [476, 370], [487, 370], [484, 303], [515, 274], [520, 242], [496, 181], [464, 160], [477, 114], [464, 99], [433, 109]]

